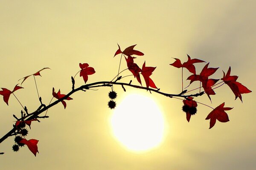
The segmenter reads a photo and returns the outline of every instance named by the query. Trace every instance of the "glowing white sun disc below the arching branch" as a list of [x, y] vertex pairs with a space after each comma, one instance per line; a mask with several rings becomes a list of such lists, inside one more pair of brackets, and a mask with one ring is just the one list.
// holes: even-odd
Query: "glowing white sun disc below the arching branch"
[[147, 96], [126, 96], [113, 111], [110, 123], [113, 135], [128, 150], [148, 151], [163, 141], [163, 114]]

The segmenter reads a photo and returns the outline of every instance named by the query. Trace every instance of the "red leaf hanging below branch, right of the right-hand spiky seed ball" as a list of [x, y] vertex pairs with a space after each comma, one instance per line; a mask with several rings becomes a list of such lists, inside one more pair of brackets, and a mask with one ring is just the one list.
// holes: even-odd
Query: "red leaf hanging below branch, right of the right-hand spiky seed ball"
[[225, 102], [222, 103], [221, 105], [219, 105], [217, 108], [213, 109], [213, 111], [211, 111], [208, 116], [206, 117], [206, 120], [210, 119], [210, 128], [212, 128], [215, 123], [216, 120], [220, 121], [220, 122], [228, 122], [228, 115], [225, 111], [229, 111], [233, 108], [224, 108]]

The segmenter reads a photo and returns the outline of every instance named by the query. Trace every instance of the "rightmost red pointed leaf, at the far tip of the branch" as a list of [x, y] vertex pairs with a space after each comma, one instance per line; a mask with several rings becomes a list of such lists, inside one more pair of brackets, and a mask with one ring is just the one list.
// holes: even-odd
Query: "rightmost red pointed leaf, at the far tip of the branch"
[[226, 75], [223, 71], [223, 78], [221, 80], [223, 80], [231, 88], [231, 90], [236, 96], [235, 99], [239, 97], [239, 99], [242, 102], [241, 94], [250, 93], [252, 91], [250, 91], [247, 87], [242, 85], [240, 82], [236, 81], [238, 79], [238, 76], [230, 76], [230, 72], [231, 72], [231, 67], [229, 67]]

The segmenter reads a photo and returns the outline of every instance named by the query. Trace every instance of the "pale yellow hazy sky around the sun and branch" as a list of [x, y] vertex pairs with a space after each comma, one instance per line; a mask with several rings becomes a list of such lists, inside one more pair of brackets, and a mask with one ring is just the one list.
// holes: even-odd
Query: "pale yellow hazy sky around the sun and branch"
[[[216, 89], [212, 104], [207, 96], [198, 98], [215, 108], [222, 102], [234, 107], [227, 111], [230, 122], [212, 129], [205, 120], [210, 108], [198, 106], [198, 113], [186, 121], [182, 102], [159, 94], [149, 94], [115, 86], [116, 102], [126, 95], [150, 96], [163, 111], [166, 122], [164, 141], [146, 153], [125, 150], [113, 137], [107, 106], [110, 88], [78, 92], [51, 108], [49, 119], [33, 122], [27, 139], [38, 139], [35, 157], [26, 147], [12, 152], [13, 137], [0, 144], [1, 169], [37, 170], [254, 170], [256, 168], [255, 44], [256, 3], [253, 0], [1, 0], [0, 1], [0, 87], [13, 89], [17, 80], [44, 67], [51, 70], [36, 77], [45, 104], [52, 87], [65, 94], [71, 90], [71, 76], [79, 62], [88, 63], [96, 74], [88, 83], [110, 81], [118, 70], [113, 58], [117, 42], [122, 50], [137, 44], [145, 56], [136, 62], [157, 66], [151, 78], [161, 91], [181, 91], [181, 69], [169, 64], [175, 58], [192, 58], [220, 67], [212, 78], [221, 78], [231, 66], [231, 75], [253, 93], [244, 94], [243, 103], [227, 87]], [[122, 62], [122, 68], [126, 64]], [[204, 64], [197, 64], [200, 73]], [[184, 72], [184, 77], [189, 76]], [[124, 79], [129, 82], [130, 78]], [[133, 79], [133, 78], [132, 78]], [[76, 86], [83, 85], [76, 77]], [[133, 79], [134, 84], [138, 84]], [[195, 83], [196, 84], [196, 83]], [[188, 82], [185, 82], [188, 85]], [[33, 78], [15, 92], [30, 112], [40, 104]], [[0, 97], [2, 100], [2, 97]], [[6, 134], [21, 107], [14, 96], [9, 106], [0, 101], [0, 136]]]

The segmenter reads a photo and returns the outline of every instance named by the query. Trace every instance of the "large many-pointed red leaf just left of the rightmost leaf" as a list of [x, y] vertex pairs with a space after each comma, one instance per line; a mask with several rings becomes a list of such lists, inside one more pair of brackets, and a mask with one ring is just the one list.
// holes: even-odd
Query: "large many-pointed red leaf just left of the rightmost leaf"
[[216, 82], [218, 82], [219, 79], [209, 79], [208, 77], [215, 73], [215, 71], [218, 70], [218, 68], [208, 68], [209, 62], [204, 66], [201, 73], [198, 74], [192, 74], [187, 79], [190, 80], [190, 84], [194, 81], [200, 81], [202, 82], [202, 87], [204, 88], [205, 93], [211, 100], [209, 95], [214, 95], [215, 92], [212, 90], [212, 86], [215, 85]]

